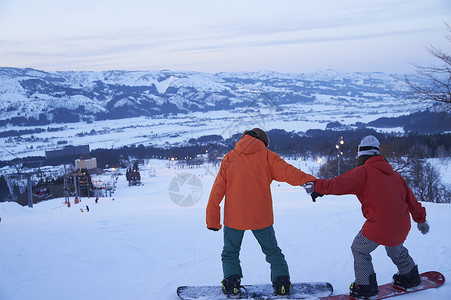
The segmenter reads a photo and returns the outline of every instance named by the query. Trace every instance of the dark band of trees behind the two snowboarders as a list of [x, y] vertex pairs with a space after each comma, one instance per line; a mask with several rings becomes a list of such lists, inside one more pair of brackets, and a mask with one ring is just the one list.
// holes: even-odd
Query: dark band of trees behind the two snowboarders
[[[400, 135], [393, 133], [379, 133], [369, 128], [357, 129], [326, 129], [308, 130], [306, 132], [285, 131], [274, 129], [267, 132], [270, 143], [269, 149], [279, 155], [292, 159], [323, 158], [318, 177], [330, 179], [337, 176], [337, 149], [335, 145], [341, 137], [344, 144], [340, 147], [341, 173], [356, 165], [356, 151], [360, 140], [367, 135], [376, 136], [381, 142], [381, 153], [403, 175], [422, 201], [449, 202], [449, 187], [440, 180], [438, 171], [428, 162], [429, 158], [447, 158], [451, 153], [451, 134], [420, 135], [411, 133]], [[241, 138], [237, 133], [230, 138], [219, 135], [207, 135], [197, 139], [190, 139], [185, 145], [170, 148], [133, 145], [117, 149], [95, 149], [91, 156], [96, 157], [99, 168], [123, 167], [127, 168], [135, 159], [170, 159], [185, 161], [187, 165], [198, 163], [196, 157], [203, 154], [209, 162], [217, 163], [235, 146]], [[33, 162], [42, 160], [42, 166], [56, 166], [73, 164], [77, 156], [63, 156], [51, 159], [44, 157], [27, 157], [20, 159], [23, 166], [33, 167]], [[28, 164], [27, 164], [28, 162]], [[0, 167], [19, 163], [19, 159], [0, 161]], [[60, 179], [45, 180], [45, 184], [52, 181], [61, 183]], [[6, 180], [0, 177], [0, 201], [8, 200], [12, 193], [20, 193], [20, 189], [10, 191]]]

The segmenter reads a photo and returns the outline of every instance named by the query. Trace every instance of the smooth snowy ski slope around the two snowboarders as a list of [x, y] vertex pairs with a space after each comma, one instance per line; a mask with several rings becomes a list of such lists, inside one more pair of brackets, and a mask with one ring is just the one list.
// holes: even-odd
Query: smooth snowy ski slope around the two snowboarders
[[[222, 231], [205, 228], [205, 206], [217, 169], [168, 169], [167, 161], [141, 167], [143, 186], [128, 187], [119, 176], [113, 198], [82, 199], [70, 208], [63, 199], [34, 208], [0, 203], [0, 299], [144, 300], [177, 299], [179, 285], [219, 284]], [[294, 162], [298, 166], [298, 162]], [[312, 170], [313, 164], [301, 168]], [[156, 170], [156, 176], [151, 176]], [[199, 202], [171, 201], [169, 183], [190, 173], [202, 184]], [[275, 230], [293, 281], [329, 281], [344, 293], [353, 278], [350, 244], [363, 223], [354, 196], [325, 196], [312, 203], [304, 190], [272, 185]], [[189, 189], [182, 187], [181, 193]], [[114, 200], [113, 200], [114, 199]], [[73, 199], [71, 199], [73, 201]], [[81, 212], [88, 205], [89, 212]], [[405, 245], [420, 271], [451, 278], [450, 205], [424, 203], [431, 231], [414, 227]], [[266, 283], [269, 266], [247, 233], [241, 253], [243, 283]], [[396, 272], [380, 247], [373, 261], [379, 283]], [[451, 299], [451, 286], [399, 298]]]

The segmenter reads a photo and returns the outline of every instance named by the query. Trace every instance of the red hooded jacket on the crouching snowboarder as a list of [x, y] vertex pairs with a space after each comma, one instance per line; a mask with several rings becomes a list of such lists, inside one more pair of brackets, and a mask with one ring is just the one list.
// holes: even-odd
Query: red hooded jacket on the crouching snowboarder
[[384, 246], [402, 244], [410, 231], [410, 214], [417, 223], [426, 221], [426, 210], [417, 201], [404, 178], [382, 156], [368, 159], [334, 179], [318, 179], [315, 192], [354, 194], [362, 204], [366, 222], [362, 234]]

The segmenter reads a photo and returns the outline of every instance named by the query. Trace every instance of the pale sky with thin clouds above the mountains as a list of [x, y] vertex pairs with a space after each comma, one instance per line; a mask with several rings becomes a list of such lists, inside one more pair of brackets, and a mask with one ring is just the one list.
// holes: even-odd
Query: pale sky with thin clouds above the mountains
[[0, 0], [0, 67], [413, 72], [451, 0]]

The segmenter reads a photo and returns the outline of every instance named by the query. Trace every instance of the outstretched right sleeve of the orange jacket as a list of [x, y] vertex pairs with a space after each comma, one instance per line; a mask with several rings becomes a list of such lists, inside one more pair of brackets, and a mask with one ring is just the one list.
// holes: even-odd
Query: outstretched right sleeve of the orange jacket
[[274, 180], [289, 183], [291, 185], [303, 185], [315, 181], [316, 177], [299, 170], [284, 161], [278, 154], [268, 150], [268, 163]]

